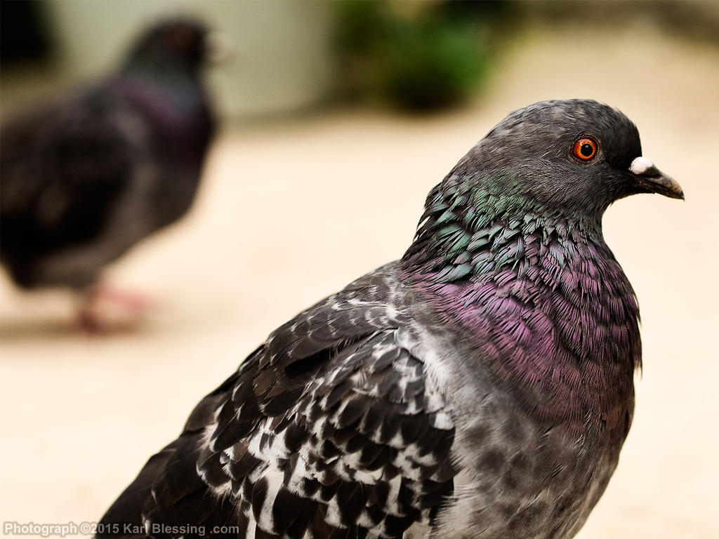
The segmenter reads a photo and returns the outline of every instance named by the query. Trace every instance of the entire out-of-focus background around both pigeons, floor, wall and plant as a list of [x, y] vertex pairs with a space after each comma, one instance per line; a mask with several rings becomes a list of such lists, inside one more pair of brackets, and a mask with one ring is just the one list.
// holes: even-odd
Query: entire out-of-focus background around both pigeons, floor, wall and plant
[[595, 98], [682, 184], [610, 208], [642, 308], [636, 418], [579, 537], [719, 533], [715, 332], [719, 3], [34, 1], [1, 6], [5, 120], [106, 73], [147, 24], [232, 40], [206, 73], [222, 129], [193, 210], [106, 272], [157, 306], [68, 329], [68, 292], [0, 281], [0, 520], [97, 520], [276, 326], [410, 243], [431, 186], [509, 111]]

